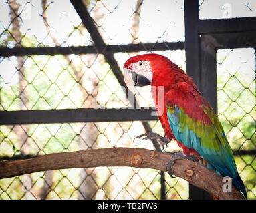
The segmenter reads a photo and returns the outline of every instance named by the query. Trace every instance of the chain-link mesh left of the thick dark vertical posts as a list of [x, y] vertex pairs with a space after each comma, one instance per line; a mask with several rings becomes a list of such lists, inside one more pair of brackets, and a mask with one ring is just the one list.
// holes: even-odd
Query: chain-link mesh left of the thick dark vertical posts
[[[164, 5], [144, 2], [141, 13], [138, 13], [139, 3], [86, 2], [106, 44], [184, 40], [184, 23], [180, 18], [184, 16], [184, 11], [180, 2], [166, 1]], [[171, 17], [166, 15], [167, 6], [174, 7], [175, 13]], [[158, 15], [155, 23], [164, 19], [157, 31], [148, 13], [144, 12], [146, 8]], [[0, 14], [3, 15], [0, 21], [0, 45], [3, 47], [94, 46], [90, 33], [82, 25], [70, 1], [61, 1], [61, 7], [59, 1], [7, 1], [1, 4]], [[136, 30], [138, 25], [140, 31]], [[175, 29], [179, 33], [170, 33]], [[174, 61], [177, 59], [176, 63], [184, 67], [184, 51], [160, 53], [173, 57]], [[115, 53], [114, 57], [122, 67], [130, 55], [132, 53]], [[102, 54], [1, 57], [0, 70], [1, 110], [129, 106], [124, 90]], [[140, 106], [152, 106], [149, 87], [140, 90], [140, 93], [144, 92], [148, 96], [136, 97]], [[163, 134], [158, 121], [149, 124], [153, 132]], [[137, 147], [154, 150], [150, 141], [134, 141], [136, 136], [145, 132], [141, 122], [11, 125], [0, 126], [0, 132], [1, 160], [91, 148]], [[168, 148], [175, 147], [171, 144]], [[157, 170], [72, 168], [2, 179], [0, 198], [160, 199], [161, 187], [160, 172]], [[166, 176], [165, 188], [168, 199], [188, 198], [188, 182], [185, 180]]]

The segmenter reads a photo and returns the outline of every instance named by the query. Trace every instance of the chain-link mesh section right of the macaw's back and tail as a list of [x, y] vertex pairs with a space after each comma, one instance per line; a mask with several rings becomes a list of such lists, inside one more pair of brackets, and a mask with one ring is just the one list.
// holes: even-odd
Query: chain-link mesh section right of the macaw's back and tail
[[248, 198], [256, 195], [255, 49], [217, 51], [218, 114], [227, 134]]

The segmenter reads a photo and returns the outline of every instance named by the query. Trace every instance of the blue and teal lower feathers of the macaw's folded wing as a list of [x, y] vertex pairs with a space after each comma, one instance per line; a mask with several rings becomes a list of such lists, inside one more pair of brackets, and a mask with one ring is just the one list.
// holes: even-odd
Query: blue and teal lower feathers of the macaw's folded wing
[[[225, 134], [223, 132], [219, 132], [219, 134], [225, 140], [224, 146], [219, 141], [218, 144], [213, 144], [213, 146], [215, 145], [216, 148], [207, 148], [201, 144], [201, 140], [203, 138], [200, 138], [197, 135], [197, 132], [193, 132], [193, 130], [189, 129], [188, 125], [186, 125], [185, 128], [184, 126], [182, 128], [182, 125], [184, 124], [180, 124], [179, 116], [182, 116], [182, 112], [177, 105], [175, 106], [173, 113], [171, 113], [170, 110], [167, 110], [168, 122], [176, 140], [182, 142], [188, 148], [194, 148], [202, 158], [209, 162], [207, 166], [208, 168], [214, 170], [218, 174], [233, 178], [233, 184], [237, 186], [237, 188], [241, 190], [246, 197], [245, 186], [243, 185], [243, 181], [237, 172], [233, 154], [230, 154], [227, 151], [228, 149], [226, 146], [229, 145]], [[217, 128], [216, 131], [218, 131]], [[208, 133], [205, 132], [205, 135], [208, 136]], [[217, 152], [218, 149], [219, 151]]]

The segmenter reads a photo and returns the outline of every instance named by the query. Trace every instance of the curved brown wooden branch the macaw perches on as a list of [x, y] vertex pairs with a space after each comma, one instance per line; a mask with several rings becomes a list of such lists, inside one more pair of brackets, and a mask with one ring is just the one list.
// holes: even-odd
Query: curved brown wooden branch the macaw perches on
[[[170, 154], [142, 148], [104, 148], [46, 154], [27, 160], [0, 162], [0, 179], [46, 170], [97, 166], [132, 166], [166, 172], [165, 167], [170, 157]], [[244, 199], [234, 186], [232, 192], [223, 192], [223, 178], [195, 162], [176, 160], [172, 172], [219, 199]]]

